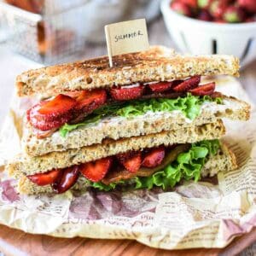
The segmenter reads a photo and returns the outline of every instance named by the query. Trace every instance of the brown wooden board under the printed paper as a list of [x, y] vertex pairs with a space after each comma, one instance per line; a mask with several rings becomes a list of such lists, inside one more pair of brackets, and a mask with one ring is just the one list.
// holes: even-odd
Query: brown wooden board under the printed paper
[[[55, 238], [51, 236], [30, 235], [20, 230], [13, 230], [0, 225], [0, 251], [7, 255], [40, 255], [40, 256], [64, 256], [64, 255], [236, 255], [250, 246], [256, 239], [256, 229], [251, 233], [236, 238], [224, 249], [188, 249], [188, 250], [160, 250], [144, 246], [131, 240], [100, 240], [88, 238]], [[253, 254], [251, 254], [253, 255]]]

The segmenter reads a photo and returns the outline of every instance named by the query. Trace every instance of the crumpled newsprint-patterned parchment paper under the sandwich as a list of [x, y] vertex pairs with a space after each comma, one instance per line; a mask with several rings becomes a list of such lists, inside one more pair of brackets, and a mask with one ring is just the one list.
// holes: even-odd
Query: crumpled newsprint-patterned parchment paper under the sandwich
[[[219, 79], [218, 90], [248, 101], [235, 79]], [[24, 104], [24, 102], [23, 102]], [[15, 112], [22, 112], [15, 99]], [[170, 192], [67, 192], [24, 196], [15, 181], [0, 181], [0, 224], [33, 234], [127, 238], [151, 247], [225, 247], [256, 226], [256, 113], [248, 122], [227, 122], [225, 140], [240, 168], [219, 173], [214, 183], [184, 183]], [[20, 129], [19, 129], [20, 130]], [[20, 132], [20, 131], [19, 131]], [[0, 137], [0, 166], [19, 152], [19, 135], [10, 117]]]

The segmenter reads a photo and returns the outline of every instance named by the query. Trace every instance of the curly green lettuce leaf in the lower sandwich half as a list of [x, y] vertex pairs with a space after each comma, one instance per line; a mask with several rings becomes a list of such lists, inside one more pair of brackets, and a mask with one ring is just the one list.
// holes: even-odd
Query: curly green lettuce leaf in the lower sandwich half
[[201, 168], [205, 165], [209, 156], [217, 154], [219, 147], [218, 140], [193, 143], [187, 152], [177, 155], [177, 160], [150, 177], [133, 177], [127, 181], [119, 181], [108, 185], [101, 182], [91, 183], [91, 186], [104, 191], [115, 189], [119, 184], [130, 184], [133, 189], [152, 189], [154, 186], [168, 189], [174, 187], [181, 179], [193, 179], [197, 182], [201, 178]]

